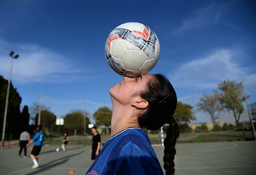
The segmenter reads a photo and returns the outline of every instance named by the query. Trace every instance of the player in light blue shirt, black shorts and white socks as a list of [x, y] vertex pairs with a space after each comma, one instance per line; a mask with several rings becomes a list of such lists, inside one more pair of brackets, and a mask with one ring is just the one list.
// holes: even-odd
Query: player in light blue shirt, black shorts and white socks
[[35, 136], [33, 136], [33, 139], [31, 141], [29, 141], [29, 143], [27, 144], [26, 147], [28, 147], [32, 142], [34, 143], [33, 149], [30, 153], [30, 157], [34, 163], [34, 165], [32, 166], [32, 169], [36, 169], [39, 167], [38, 164], [38, 155], [41, 151], [42, 145], [44, 145], [44, 140], [45, 140], [45, 134], [44, 132], [41, 131], [42, 128], [40, 125], [37, 126], [37, 133]]

